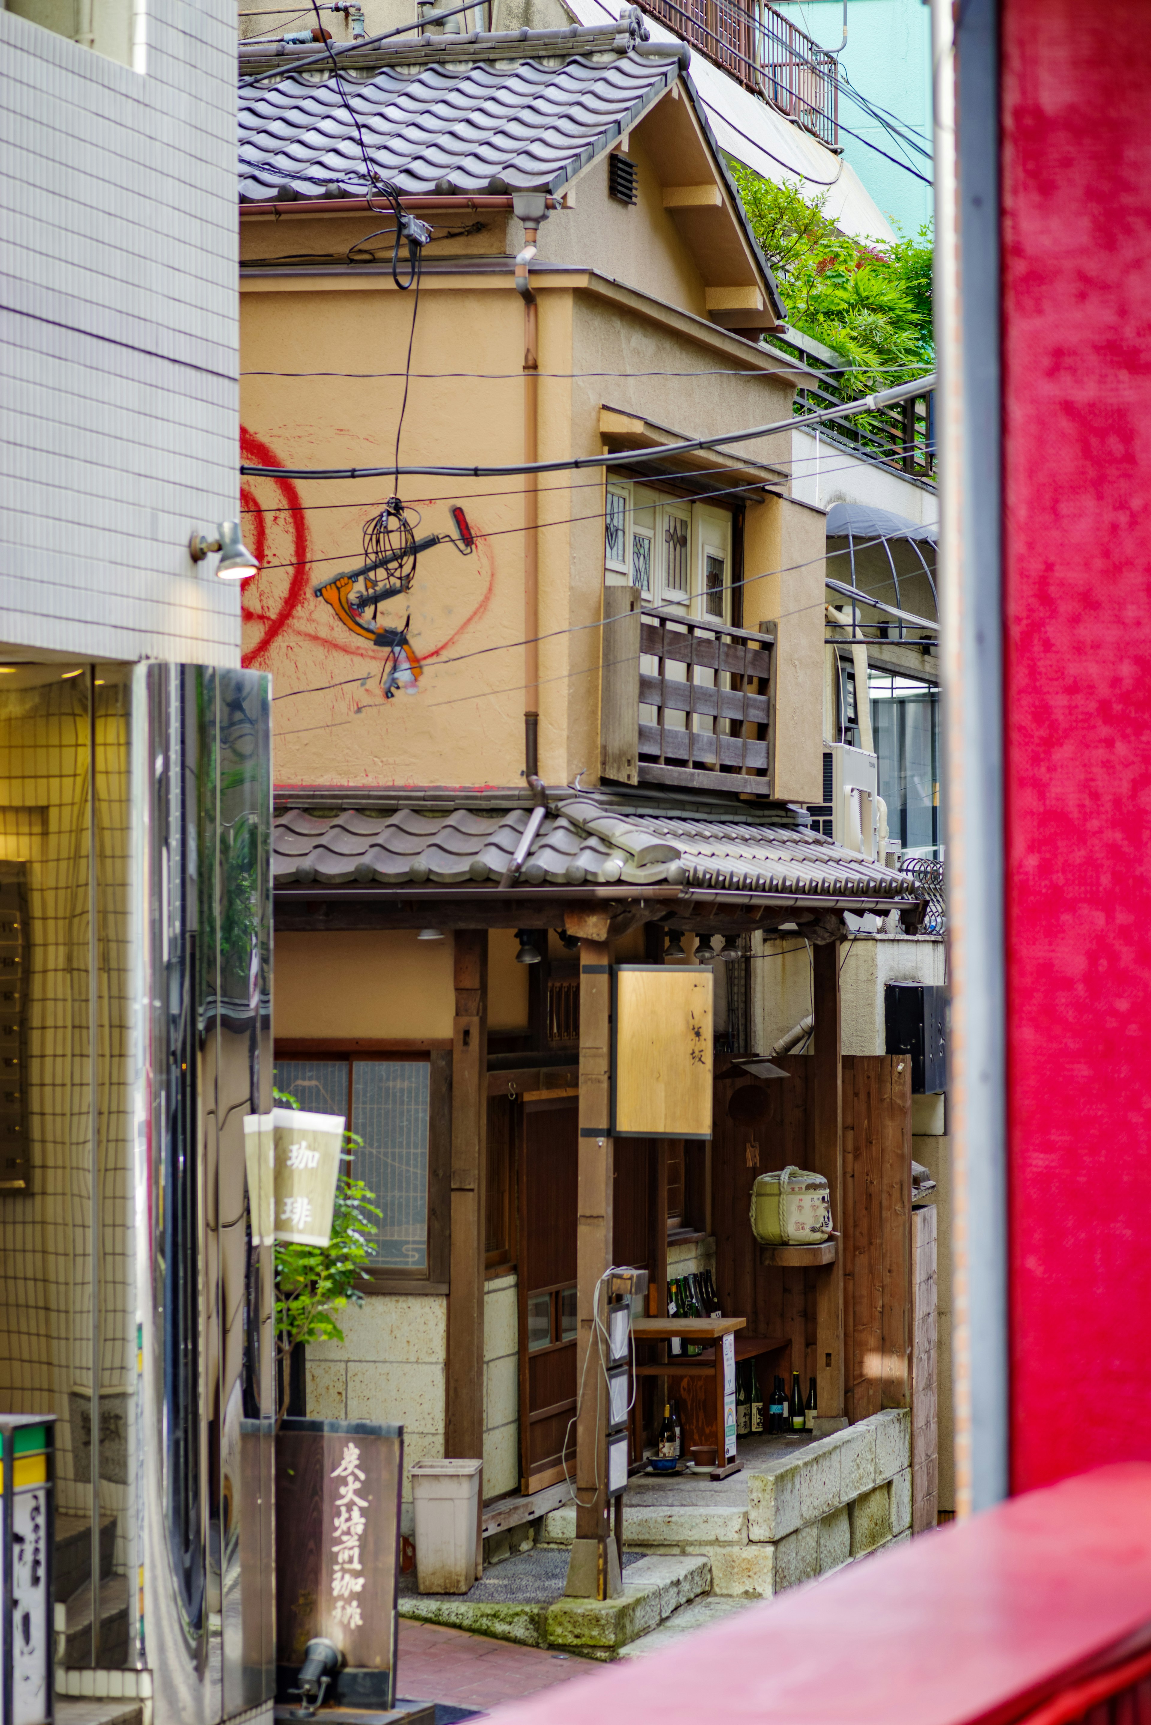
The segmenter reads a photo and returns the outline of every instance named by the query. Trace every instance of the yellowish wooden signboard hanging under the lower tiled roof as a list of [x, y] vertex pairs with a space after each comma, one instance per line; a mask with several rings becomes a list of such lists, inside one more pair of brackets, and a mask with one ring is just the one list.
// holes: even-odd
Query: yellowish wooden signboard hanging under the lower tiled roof
[[616, 964], [616, 1138], [709, 1138], [713, 976], [695, 964]]

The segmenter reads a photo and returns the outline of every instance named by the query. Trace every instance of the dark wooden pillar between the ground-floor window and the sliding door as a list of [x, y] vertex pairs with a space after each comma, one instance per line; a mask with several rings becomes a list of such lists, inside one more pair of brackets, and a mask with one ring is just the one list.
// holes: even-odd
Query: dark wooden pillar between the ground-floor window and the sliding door
[[483, 1456], [488, 937], [485, 928], [462, 928], [454, 940], [452, 1270], [447, 1295], [443, 1452]]

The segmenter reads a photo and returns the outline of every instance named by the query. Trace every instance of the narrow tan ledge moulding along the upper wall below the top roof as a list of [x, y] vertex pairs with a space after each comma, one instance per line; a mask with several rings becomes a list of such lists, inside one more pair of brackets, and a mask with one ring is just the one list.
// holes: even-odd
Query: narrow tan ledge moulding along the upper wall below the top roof
[[[431, 259], [425, 262], [419, 286], [423, 293], [461, 293], [499, 288], [509, 292], [514, 283], [514, 257], [481, 257], [475, 260]], [[613, 276], [578, 264], [533, 264], [531, 286], [537, 293], [564, 290], [590, 293], [609, 305], [630, 310], [663, 329], [675, 329], [713, 354], [723, 354], [759, 371], [764, 378], [780, 378], [792, 388], [811, 388], [815, 374], [797, 366], [787, 354], [749, 342], [733, 329], [721, 329], [695, 312], [685, 312], [668, 300], [628, 288]], [[371, 292], [397, 293], [390, 264], [245, 264], [240, 271], [242, 293], [300, 293], [300, 292]]]

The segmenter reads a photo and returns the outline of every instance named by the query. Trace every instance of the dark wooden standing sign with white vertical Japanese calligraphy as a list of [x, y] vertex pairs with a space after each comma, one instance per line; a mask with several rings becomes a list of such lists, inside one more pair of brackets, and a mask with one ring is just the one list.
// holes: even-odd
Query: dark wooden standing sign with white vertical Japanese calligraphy
[[299, 1699], [304, 1653], [343, 1654], [331, 1699], [390, 1708], [404, 1428], [285, 1420], [276, 1437], [276, 1690]]

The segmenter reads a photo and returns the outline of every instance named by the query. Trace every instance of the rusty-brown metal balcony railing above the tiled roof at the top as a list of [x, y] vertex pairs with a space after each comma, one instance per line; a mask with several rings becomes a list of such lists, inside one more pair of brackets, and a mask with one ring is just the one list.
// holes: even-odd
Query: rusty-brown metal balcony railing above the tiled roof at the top
[[763, 0], [644, 0], [644, 10], [787, 114], [839, 147], [835, 59]]

